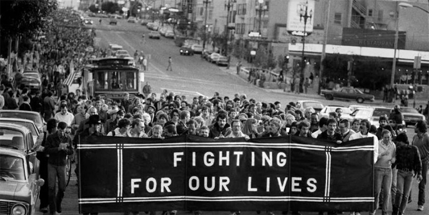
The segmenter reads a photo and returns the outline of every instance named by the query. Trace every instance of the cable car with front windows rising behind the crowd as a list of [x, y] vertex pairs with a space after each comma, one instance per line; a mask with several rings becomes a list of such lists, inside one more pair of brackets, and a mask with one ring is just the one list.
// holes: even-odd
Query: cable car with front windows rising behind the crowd
[[83, 71], [87, 95], [116, 100], [122, 99], [125, 92], [133, 98], [143, 91], [144, 72], [130, 65], [128, 59], [97, 59]]

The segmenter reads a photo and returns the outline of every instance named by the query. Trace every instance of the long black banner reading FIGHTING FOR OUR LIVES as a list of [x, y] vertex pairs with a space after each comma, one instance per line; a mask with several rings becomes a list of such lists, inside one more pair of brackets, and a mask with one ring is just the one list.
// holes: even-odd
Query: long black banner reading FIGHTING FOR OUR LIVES
[[372, 211], [373, 142], [301, 137], [78, 144], [79, 212]]

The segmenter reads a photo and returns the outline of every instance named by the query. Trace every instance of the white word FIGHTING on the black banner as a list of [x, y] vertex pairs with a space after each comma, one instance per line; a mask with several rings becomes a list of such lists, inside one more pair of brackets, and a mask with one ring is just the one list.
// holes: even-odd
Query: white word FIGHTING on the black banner
[[[250, 153], [251, 166], [255, 166], [256, 156], [258, 155], [259, 154], [256, 154], [254, 151]], [[277, 152], [277, 154], [273, 155], [272, 151], [269, 151], [269, 152], [262, 151], [260, 155], [261, 155], [260, 165], [262, 166], [273, 166], [273, 165], [277, 165], [278, 167], [286, 166], [287, 156], [285, 152]], [[243, 151], [219, 151], [219, 154], [216, 154], [216, 155], [211, 151], [207, 151], [202, 156], [197, 156], [196, 152], [193, 151], [191, 153], [191, 156], [192, 156], [192, 166], [196, 166], [197, 161], [201, 161], [201, 160], [205, 166], [213, 166], [213, 165], [240, 166], [240, 164], [242, 163], [242, 160], [244, 159]], [[183, 157], [184, 157], [183, 151], [174, 152], [173, 166], [177, 167], [178, 162], [183, 161]]]

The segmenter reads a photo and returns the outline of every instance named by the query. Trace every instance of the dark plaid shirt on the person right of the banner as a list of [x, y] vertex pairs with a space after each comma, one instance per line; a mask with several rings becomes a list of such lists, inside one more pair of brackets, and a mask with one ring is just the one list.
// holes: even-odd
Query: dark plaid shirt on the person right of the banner
[[396, 168], [398, 170], [422, 173], [422, 160], [419, 149], [415, 145], [400, 145], [396, 148]]

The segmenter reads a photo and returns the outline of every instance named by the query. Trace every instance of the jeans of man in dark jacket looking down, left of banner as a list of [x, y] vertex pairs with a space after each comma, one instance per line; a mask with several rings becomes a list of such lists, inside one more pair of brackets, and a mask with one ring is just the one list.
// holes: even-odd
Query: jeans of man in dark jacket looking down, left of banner
[[[55, 195], [58, 177], [58, 194]], [[61, 213], [61, 202], [65, 192], [65, 165], [56, 166], [48, 163], [49, 211]], [[57, 196], [57, 197], [56, 197]]]

